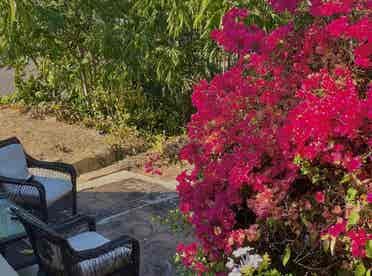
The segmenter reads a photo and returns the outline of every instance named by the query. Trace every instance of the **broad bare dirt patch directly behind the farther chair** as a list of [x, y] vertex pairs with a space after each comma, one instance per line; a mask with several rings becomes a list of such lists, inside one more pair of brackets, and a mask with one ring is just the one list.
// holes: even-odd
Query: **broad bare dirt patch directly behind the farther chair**
[[[0, 107], [0, 140], [18, 137], [32, 156], [63, 161], [79, 167], [79, 162], [110, 152], [104, 136], [93, 129], [56, 121], [32, 119], [16, 109]], [[92, 160], [91, 160], [92, 161]], [[89, 166], [89, 164], [84, 165]], [[83, 171], [89, 170], [80, 164]]]

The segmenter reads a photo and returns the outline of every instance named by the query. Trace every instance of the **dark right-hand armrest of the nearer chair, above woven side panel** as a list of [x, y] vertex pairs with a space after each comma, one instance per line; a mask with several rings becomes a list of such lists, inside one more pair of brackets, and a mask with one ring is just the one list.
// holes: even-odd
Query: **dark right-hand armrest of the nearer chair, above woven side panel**
[[121, 236], [120, 238], [110, 241], [100, 247], [92, 248], [89, 250], [84, 251], [75, 251], [71, 248], [72, 252], [74, 252], [75, 257], [79, 260], [79, 262], [89, 259], [98, 258], [104, 254], [110, 253], [119, 247], [124, 247], [128, 244], [132, 245], [132, 253], [131, 257], [133, 261], [136, 261], [139, 256], [139, 243], [136, 239], [133, 239], [129, 236]]

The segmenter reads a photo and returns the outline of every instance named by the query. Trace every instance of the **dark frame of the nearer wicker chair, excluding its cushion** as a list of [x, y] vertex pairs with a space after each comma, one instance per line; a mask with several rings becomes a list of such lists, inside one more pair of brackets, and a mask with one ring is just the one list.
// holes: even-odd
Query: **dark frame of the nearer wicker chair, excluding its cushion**
[[[85, 226], [88, 231], [96, 231], [96, 223], [95, 219], [85, 215], [76, 215], [70, 217], [62, 224], [47, 227], [37, 224], [30, 219], [30, 214], [27, 214], [25, 211], [12, 208], [13, 213], [20, 219], [23, 223], [26, 232], [29, 236], [30, 242], [32, 244], [34, 254], [38, 259], [39, 266], [41, 267], [41, 273], [46, 275], [55, 276], [60, 275], [61, 272], [53, 271], [48, 267], [43, 266], [39, 253], [37, 251], [37, 246], [35, 243], [35, 231], [37, 231], [37, 236], [45, 237], [48, 241], [59, 245], [62, 248], [62, 259], [63, 259], [63, 267], [65, 270], [62, 272], [63, 276], [75, 276], [72, 268], [74, 265], [86, 261], [89, 259], [98, 258], [106, 253], [109, 253], [115, 250], [118, 247], [125, 246], [130, 244], [132, 247], [131, 255], [130, 255], [130, 262], [125, 267], [119, 269], [118, 271], [113, 272], [110, 275], [128, 275], [128, 276], [139, 276], [140, 270], [140, 245], [139, 242], [127, 235], [123, 235], [120, 238], [110, 241], [100, 247], [94, 249], [88, 249], [84, 251], [75, 251], [70, 244], [68, 243], [67, 239], [65, 238], [66, 233], [71, 231], [71, 229], [76, 229], [79, 227], [79, 232], [82, 232], [82, 226]], [[64, 235], [65, 234], [65, 235]]]

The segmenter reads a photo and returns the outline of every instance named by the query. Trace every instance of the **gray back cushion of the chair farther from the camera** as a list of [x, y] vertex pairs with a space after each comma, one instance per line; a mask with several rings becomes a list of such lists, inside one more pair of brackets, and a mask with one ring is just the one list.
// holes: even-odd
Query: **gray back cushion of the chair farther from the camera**
[[0, 148], [0, 176], [16, 179], [30, 176], [22, 145], [10, 144]]

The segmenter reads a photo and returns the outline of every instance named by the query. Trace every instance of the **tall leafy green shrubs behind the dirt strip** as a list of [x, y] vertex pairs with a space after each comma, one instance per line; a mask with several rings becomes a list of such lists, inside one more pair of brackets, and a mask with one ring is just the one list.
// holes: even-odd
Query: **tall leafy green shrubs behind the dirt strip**
[[[231, 4], [2, 1], [0, 57], [16, 69], [15, 100], [25, 105], [175, 135], [193, 112], [194, 80], [226, 67], [209, 34]], [[27, 79], [29, 63], [37, 74]]]

